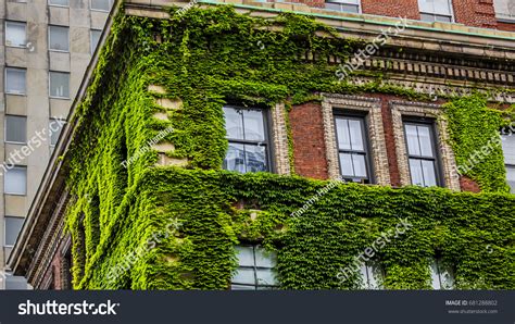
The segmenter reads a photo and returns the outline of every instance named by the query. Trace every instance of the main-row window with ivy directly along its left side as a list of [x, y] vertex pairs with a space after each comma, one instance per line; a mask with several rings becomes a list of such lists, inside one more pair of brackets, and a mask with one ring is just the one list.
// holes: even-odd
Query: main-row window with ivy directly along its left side
[[263, 110], [224, 107], [229, 149], [224, 169], [229, 171], [271, 171], [266, 116]]

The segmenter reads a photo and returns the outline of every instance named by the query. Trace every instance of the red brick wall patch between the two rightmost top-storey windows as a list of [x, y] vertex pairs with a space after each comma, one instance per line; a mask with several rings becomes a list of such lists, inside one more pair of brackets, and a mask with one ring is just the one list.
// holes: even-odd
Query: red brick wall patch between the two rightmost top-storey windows
[[493, 0], [454, 0], [453, 9], [456, 23], [485, 28], [498, 26]]

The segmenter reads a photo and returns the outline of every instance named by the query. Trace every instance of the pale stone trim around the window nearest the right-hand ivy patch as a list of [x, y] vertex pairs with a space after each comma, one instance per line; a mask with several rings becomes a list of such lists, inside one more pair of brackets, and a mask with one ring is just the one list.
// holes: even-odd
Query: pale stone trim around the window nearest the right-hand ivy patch
[[442, 169], [443, 185], [451, 190], [460, 191], [460, 178], [453, 176], [456, 169], [454, 152], [449, 145], [448, 122], [443, 115], [440, 104], [420, 103], [412, 101], [390, 101], [390, 110], [393, 123], [393, 137], [395, 140], [397, 162], [401, 186], [411, 185], [410, 166], [407, 162], [407, 148], [404, 135], [403, 117], [429, 117], [435, 120], [435, 132], [438, 142], [440, 165]]

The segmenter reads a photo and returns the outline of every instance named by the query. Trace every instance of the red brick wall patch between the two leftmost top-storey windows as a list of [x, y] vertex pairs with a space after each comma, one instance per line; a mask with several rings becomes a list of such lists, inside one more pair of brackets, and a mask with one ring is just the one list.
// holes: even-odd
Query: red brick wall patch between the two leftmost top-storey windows
[[419, 20], [418, 0], [362, 0], [363, 13]]

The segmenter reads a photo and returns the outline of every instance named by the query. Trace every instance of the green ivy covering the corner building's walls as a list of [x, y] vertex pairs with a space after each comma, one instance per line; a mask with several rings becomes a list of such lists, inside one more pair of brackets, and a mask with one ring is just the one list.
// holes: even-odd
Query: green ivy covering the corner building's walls
[[[460, 287], [515, 287], [514, 196], [350, 184], [292, 217], [327, 183], [221, 170], [228, 147], [226, 103], [272, 108], [282, 102], [288, 116], [294, 104], [319, 100], [319, 92], [428, 99], [388, 85], [382, 75], [362, 86], [338, 82], [328, 57], [344, 60], [362, 41], [339, 39], [331, 28], [293, 14], [264, 20], [230, 7], [171, 14], [169, 20], [115, 17], [72, 121], [77, 130], [63, 161], [73, 195], [66, 224], [75, 288], [227, 289], [237, 266], [234, 246], [252, 241], [278, 252], [282, 288], [351, 289], [359, 285], [357, 274], [342, 284], [338, 272], [399, 217], [414, 226], [377, 254], [386, 287], [429, 287], [428, 264], [436, 254], [453, 265]], [[315, 53], [313, 61], [303, 59], [307, 52]], [[150, 85], [166, 94], [150, 92]], [[181, 108], [166, 110], [156, 99], [181, 102]], [[477, 101], [474, 117], [464, 113], [465, 100]], [[483, 142], [495, 128], [495, 114], [485, 111], [477, 98], [448, 105], [459, 161], [477, 148], [465, 132]], [[168, 119], [153, 117], [156, 113]], [[463, 122], [467, 119], [472, 125]], [[155, 166], [156, 152], [142, 150], [169, 126], [174, 132], [163, 140], [175, 150], [167, 155], [187, 159], [184, 170]], [[494, 170], [503, 169], [498, 153], [491, 166], [470, 174], [485, 191], [505, 186]], [[122, 163], [135, 157], [125, 169]], [[253, 221], [251, 210], [259, 210]], [[180, 228], [163, 234], [172, 220]], [[145, 253], [127, 262], [135, 251]], [[126, 269], [113, 275], [121, 266]]]

